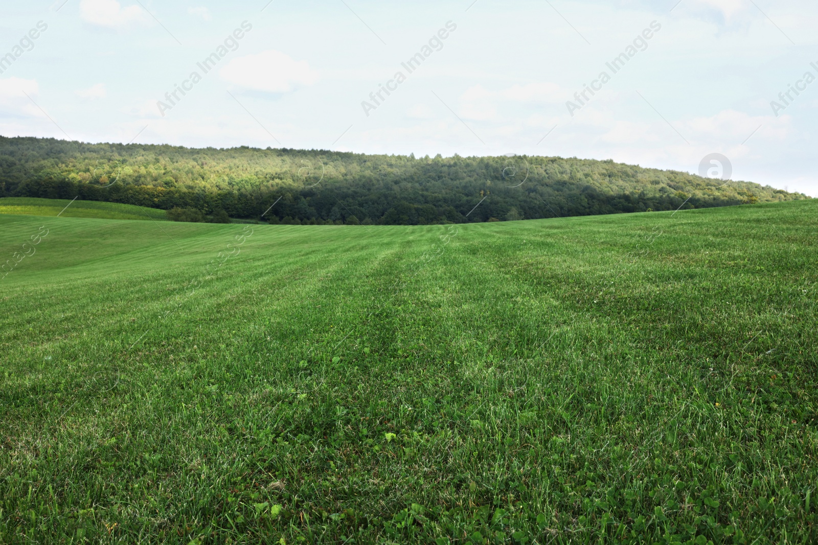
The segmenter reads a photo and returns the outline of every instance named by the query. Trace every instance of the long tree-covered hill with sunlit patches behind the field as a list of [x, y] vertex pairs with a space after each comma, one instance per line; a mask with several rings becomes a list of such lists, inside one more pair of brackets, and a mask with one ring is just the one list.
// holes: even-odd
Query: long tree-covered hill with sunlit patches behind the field
[[[0, 136], [0, 196], [224, 210], [273, 223], [429, 224], [807, 199], [767, 185], [559, 157], [416, 158]], [[479, 204], [479, 206], [477, 206]], [[475, 208], [475, 206], [477, 208]]]

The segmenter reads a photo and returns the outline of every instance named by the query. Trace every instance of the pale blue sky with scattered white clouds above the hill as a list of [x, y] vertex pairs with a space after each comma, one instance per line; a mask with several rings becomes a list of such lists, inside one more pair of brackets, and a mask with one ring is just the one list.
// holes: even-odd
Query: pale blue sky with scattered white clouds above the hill
[[818, 196], [814, 0], [0, 0], [0, 13], [3, 136], [613, 159]]

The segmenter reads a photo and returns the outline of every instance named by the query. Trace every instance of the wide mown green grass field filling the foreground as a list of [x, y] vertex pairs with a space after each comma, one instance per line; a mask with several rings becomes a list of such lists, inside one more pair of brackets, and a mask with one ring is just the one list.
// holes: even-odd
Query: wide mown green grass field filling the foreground
[[0, 542], [818, 539], [818, 202], [231, 248], [3, 216], [0, 256], [40, 226], [0, 280]]

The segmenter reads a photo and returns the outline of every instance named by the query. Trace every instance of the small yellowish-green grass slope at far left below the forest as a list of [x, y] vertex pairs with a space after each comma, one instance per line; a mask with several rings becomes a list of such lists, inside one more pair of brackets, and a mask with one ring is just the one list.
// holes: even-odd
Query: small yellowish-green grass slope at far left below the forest
[[[68, 206], [70, 203], [70, 206]], [[65, 208], [68, 206], [68, 208]], [[60, 213], [61, 211], [64, 211]], [[168, 217], [164, 210], [134, 206], [133, 204], [98, 203], [96, 201], [70, 199], [34, 199], [31, 197], [6, 197], [0, 199], [0, 214], [24, 214], [27, 216], [95, 217], [106, 220], [162, 220]]]

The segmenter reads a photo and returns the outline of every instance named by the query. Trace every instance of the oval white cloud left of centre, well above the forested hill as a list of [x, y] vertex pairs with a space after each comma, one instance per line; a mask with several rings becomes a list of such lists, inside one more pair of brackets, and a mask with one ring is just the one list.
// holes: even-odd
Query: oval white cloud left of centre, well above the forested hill
[[306, 60], [293, 60], [279, 51], [236, 57], [219, 74], [230, 83], [264, 92], [289, 92], [318, 81]]

